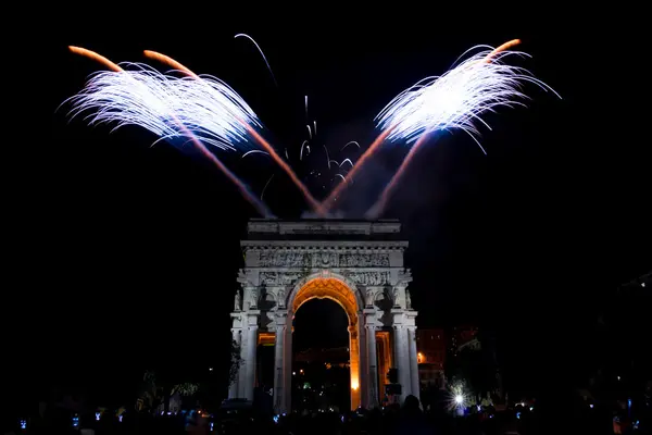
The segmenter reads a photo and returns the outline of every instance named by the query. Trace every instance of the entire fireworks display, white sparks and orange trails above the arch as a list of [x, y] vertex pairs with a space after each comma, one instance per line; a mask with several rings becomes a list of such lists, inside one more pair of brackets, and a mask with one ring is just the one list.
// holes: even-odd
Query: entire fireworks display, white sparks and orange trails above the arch
[[[237, 36], [251, 39], [263, 55], [276, 83], [258, 44], [247, 35]], [[263, 196], [274, 175], [265, 184], [259, 199], [244, 182], [222, 163], [218, 153], [237, 152], [242, 158], [251, 153], [269, 156], [301, 191], [311, 212], [324, 217], [334, 211], [337, 198], [353, 182], [366, 162], [379, 152], [384, 142], [401, 142], [410, 150], [376, 203], [366, 213], [367, 217], [376, 219], [383, 214], [416, 150], [438, 130], [462, 130], [476, 141], [481, 152], [485, 152], [479, 142], [479, 128], [491, 128], [481, 119], [482, 114], [494, 112], [500, 107], [525, 105], [523, 101], [527, 97], [523, 85], [528, 83], [559, 97], [527, 70], [506, 63], [506, 60], [513, 57], [528, 57], [525, 52], [511, 50], [519, 42], [518, 39], [514, 39], [498, 48], [473, 47], [441, 76], [427, 77], [399, 94], [375, 117], [378, 137], [355, 162], [351, 160], [353, 156], [342, 159], [341, 162], [330, 159], [328, 149], [324, 146], [327, 169], [337, 171], [333, 177], [334, 181], [337, 179], [337, 184], [322, 202], [313, 197], [292, 170], [287, 148], [284, 159], [276, 148], [264, 139], [262, 122], [236, 90], [217, 77], [193, 73], [165, 54], [145, 51], [148, 59], [173, 69], [162, 74], [143, 63], [118, 65], [90, 50], [70, 47], [72, 52], [92, 59], [109, 71], [91, 75], [84, 89], [64, 103], [72, 105], [72, 116], [84, 114], [91, 125], [111, 124], [113, 129], [124, 125], [137, 125], [159, 137], [154, 144], [165, 140], [181, 150], [186, 144], [192, 144], [265, 217], [271, 217], [272, 212], [264, 204]], [[310, 145], [313, 136], [317, 134], [316, 121], [310, 123], [308, 120], [308, 97], [305, 115], [309, 139], [301, 145], [300, 161], [314, 152]], [[356, 148], [350, 145], [355, 145]], [[340, 151], [344, 149], [358, 151], [360, 144], [350, 141]], [[317, 169], [311, 174], [315, 172], [321, 174]]]

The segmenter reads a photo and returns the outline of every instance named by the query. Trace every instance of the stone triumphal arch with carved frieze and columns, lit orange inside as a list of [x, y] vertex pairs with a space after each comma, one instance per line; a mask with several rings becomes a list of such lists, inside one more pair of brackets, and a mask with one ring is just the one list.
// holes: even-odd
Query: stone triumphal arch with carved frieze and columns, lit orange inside
[[231, 313], [243, 363], [229, 398], [253, 399], [256, 349], [267, 341], [275, 346], [274, 408], [290, 410], [292, 321], [315, 298], [339, 303], [349, 319], [352, 408], [378, 406], [390, 368], [401, 399], [418, 397], [417, 312], [400, 229], [397, 221], [250, 221]]

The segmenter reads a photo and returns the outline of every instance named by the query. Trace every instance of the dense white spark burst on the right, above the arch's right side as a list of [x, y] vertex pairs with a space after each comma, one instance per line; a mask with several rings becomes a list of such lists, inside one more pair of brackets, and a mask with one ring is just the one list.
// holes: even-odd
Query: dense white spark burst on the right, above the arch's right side
[[524, 105], [522, 100], [527, 97], [522, 87], [525, 83], [554, 92], [527, 70], [503, 63], [507, 55], [527, 54], [519, 51], [503, 51], [497, 55], [492, 55], [492, 51], [478, 52], [442, 76], [427, 77], [405, 89], [374, 121], [381, 129], [390, 129], [389, 140], [412, 142], [424, 133], [459, 128], [477, 142], [476, 122], [490, 128], [480, 114], [498, 107]]

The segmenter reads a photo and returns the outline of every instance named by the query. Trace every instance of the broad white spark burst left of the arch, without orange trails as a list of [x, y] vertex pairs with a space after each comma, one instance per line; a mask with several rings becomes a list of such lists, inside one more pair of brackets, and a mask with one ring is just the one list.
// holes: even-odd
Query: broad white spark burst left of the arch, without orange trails
[[90, 124], [138, 125], [166, 140], [192, 134], [225, 150], [241, 150], [247, 127], [261, 127], [247, 102], [216, 77], [179, 78], [145, 64], [127, 66], [133, 70], [95, 74], [68, 100], [71, 114], [90, 112], [86, 116]]

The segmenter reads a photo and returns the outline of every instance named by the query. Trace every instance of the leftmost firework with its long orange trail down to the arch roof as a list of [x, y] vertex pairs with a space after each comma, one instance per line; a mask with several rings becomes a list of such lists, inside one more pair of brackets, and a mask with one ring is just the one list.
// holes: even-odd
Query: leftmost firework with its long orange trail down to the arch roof
[[[88, 57], [92, 60], [99, 61], [99, 62], [108, 65], [111, 70], [113, 70], [113, 75], [120, 75], [122, 77], [130, 76], [121, 66], [118, 66], [117, 64], [111, 62], [109, 59], [106, 59], [96, 52], [92, 52], [90, 50], [86, 50], [86, 49], [83, 49], [79, 47], [70, 47], [70, 49], [72, 52], [74, 52], [76, 54], [82, 54], [82, 55]], [[101, 74], [96, 75], [96, 78], [100, 75]], [[92, 79], [91, 79], [91, 83], [92, 83]], [[139, 87], [137, 82], [134, 83], [133, 85]], [[102, 88], [100, 86], [97, 89], [102, 89]], [[117, 101], [120, 101], [120, 94], [112, 95], [111, 92], [109, 92], [105, 95], [105, 97], [106, 97], [106, 100], [103, 102], [105, 102], [106, 105], [102, 105], [102, 99], [96, 99], [92, 97], [92, 87], [90, 87], [90, 83], [89, 83], [88, 86], [86, 87], [85, 91], [83, 91], [78, 96], [70, 99], [73, 102], [73, 104], [75, 104], [75, 109], [73, 110], [73, 115], [74, 115], [74, 113], [80, 113], [86, 110], [97, 109], [98, 112], [96, 113], [96, 115], [95, 116], [91, 115], [91, 123], [93, 123], [93, 122], [95, 123], [109, 123], [112, 121], [117, 121], [118, 126], [131, 124], [131, 123], [137, 124], [134, 122], [134, 121], [136, 121], [135, 119], [130, 119], [131, 117], [130, 114], [126, 115], [124, 119], [120, 119], [120, 116], [117, 116], [117, 117], [111, 120], [111, 113], [113, 113], [114, 116], [116, 115], [116, 113], [120, 113], [121, 105], [112, 103], [112, 102], [116, 101], [116, 97], [117, 97]], [[148, 101], [148, 102], [156, 101], [156, 97], [154, 94], [148, 95], [143, 90], [140, 90], [140, 97], [142, 98], [142, 101]], [[238, 178], [231, 171], [229, 171], [228, 167], [226, 167], [222, 163], [222, 161], [220, 161], [220, 159], [217, 159], [212, 152], [210, 152], [204, 147], [204, 145], [201, 141], [199, 141], [197, 139], [197, 137], [190, 130], [188, 130], [186, 128], [186, 126], [183, 124], [183, 122], [180, 122], [176, 117], [174, 112], [171, 112], [171, 111], [162, 112], [162, 107], [160, 104], [162, 104], [163, 101], [159, 100], [156, 102], [158, 102], [158, 104], [154, 104], [153, 108], [151, 108], [152, 110], [151, 110], [150, 114], [159, 112], [162, 116], [162, 120], [172, 120], [178, 127], [180, 134], [183, 136], [187, 137], [195, 145], [195, 147], [199, 150], [199, 152], [202, 156], [204, 156], [213, 164], [215, 164], [217, 166], [217, 169], [220, 171], [222, 171], [222, 173], [236, 185], [236, 187], [241, 192], [241, 195], [244, 197], [244, 199], [247, 199], [254, 207], [254, 209], [259, 213], [261, 213], [261, 215], [263, 215], [265, 217], [272, 216], [272, 213], [265, 207], [265, 204], [263, 204], [261, 201], [259, 201], [251, 194], [251, 190], [249, 189], [249, 187], [244, 183], [242, 183], [240, 181], [240, 178]], [[174, 128], [171, 128], [170, 126], [167, 126], [165, 121], [158, 122], [161, 120], [151, 120], [151, 119], [149, 121], [153, 121], [153, 122], [146, 123], [145, 125], [143, 124], [138, 124], [138, 125], [143, 126], [145, 128], [149, 129], [150, 132], [153, 132], [154, 134], [159, 134], [159, 136], [161, 136], [161, 137], [171, 138], [171, 137], [177, 136], [177, 134], [173, 133]]]

